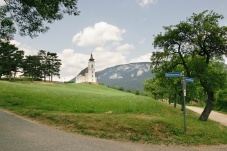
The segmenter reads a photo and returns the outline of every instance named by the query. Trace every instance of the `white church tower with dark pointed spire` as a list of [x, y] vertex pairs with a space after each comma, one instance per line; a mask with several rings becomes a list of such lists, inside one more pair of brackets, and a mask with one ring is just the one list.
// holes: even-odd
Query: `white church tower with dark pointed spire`
[[96, 82], [95, 59], [93, 58], [92, 54], [91, 54], [91, 57], [88, 61], [88, 82]]

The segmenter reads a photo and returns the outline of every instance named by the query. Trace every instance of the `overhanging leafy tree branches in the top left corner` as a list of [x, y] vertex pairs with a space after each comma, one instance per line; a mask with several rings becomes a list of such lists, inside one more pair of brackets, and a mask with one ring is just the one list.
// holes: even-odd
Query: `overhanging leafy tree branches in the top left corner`
[[[14, 21], [21, 36], [36, 37], [38, 33], [45, 33], [49, 27], [47, 23], [61, 20], [64, 14], [79, 15], [77, 0], [4, 0], [10, 21]], [[5, 16], [1, 16], [1, 20]]]

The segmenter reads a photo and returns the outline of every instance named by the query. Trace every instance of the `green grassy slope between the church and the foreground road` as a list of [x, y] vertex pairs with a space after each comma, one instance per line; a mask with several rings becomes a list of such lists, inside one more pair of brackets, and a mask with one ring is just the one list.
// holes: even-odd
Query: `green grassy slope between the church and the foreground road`
[[66, 131], [165, 144], [227, 144], [227, 128], [149, 97], [88, 84], [0, 81], [0, 107]]

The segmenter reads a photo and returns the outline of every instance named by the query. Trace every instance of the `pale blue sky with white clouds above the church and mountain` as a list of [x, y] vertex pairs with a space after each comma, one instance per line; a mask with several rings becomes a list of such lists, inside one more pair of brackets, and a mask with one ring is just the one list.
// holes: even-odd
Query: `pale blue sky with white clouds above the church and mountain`
[[149, 62], [154, 36], [163, 32], [163, 26], [176, 25], [193, 13], [213, 10], [226, 17], [220, 25], [227, 26], [226, 0], [78, 0], [78, 10], [79, 16], [65, 15], [49, 24], [45, 34], [33, 39], [16, 34], [11, 42], [26, 55], [39, 50], [57, 53], [61, 78], [54, 80], [68, 81], [87, 67], [91, 53], [96, 71]]

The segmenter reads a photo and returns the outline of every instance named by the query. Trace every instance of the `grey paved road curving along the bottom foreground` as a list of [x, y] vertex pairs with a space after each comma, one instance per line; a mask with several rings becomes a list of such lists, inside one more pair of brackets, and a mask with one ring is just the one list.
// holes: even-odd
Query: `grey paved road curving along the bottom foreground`
[[146, 145], [66, 133], [0, 110], [0, 151], [226, 151], [227, 146]]

